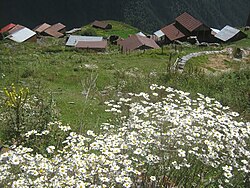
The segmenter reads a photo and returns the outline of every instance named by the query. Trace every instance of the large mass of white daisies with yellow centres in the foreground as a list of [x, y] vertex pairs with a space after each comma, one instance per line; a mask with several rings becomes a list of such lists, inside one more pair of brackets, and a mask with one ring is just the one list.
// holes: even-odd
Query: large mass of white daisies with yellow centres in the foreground
[[[243, 187], [249, 181], [250, 123], [215, 99], [152, 85], [106, 102], [118, 121], [70, 132], [48, 155], [13, 148], [0, 182], [13, 187]], [[70, 131], [69, 127], [61, 130]], [[27, 136], [37, 134], [28, 132]], [[46, 157], [47, 156], [47, 157]]]

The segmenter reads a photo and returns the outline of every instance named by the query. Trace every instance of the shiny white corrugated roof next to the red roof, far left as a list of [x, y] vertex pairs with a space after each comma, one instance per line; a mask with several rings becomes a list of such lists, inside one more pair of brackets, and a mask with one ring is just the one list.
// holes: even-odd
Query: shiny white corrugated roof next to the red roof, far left
[[7, 38], [16, 41], [16, 42], [24, 42], [28, 40], [29, 38], [33, 37], [36, 35], [36, 33], [28, 28], [23, 28], [11, 35], [9, 35]]

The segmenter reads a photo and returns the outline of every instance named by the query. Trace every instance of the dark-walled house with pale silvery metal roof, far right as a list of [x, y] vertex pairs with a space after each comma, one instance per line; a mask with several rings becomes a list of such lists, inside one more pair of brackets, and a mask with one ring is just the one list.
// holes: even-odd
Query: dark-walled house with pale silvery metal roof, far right
[[218, 32], [215, 35], [215, 37], [219, 39], [221, 42], [233, 42], [241, 40], [247, 37], [247, 35], [243, 33], [241, 30], [227, 25], [220, 32]]

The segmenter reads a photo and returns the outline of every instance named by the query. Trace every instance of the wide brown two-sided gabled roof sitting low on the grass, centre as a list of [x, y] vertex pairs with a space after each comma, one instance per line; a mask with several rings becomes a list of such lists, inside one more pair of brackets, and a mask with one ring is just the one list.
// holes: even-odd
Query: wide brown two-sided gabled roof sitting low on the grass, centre
[[153, 39], [139, 36], [139, 35], [132, 35], [129, 38], [119, 41], [119, 44], [123, 47], [123, 51], [132, 51], [136, 50], [140, 47], [147, 47], [147, 48], [159, 48], [156, 42]]

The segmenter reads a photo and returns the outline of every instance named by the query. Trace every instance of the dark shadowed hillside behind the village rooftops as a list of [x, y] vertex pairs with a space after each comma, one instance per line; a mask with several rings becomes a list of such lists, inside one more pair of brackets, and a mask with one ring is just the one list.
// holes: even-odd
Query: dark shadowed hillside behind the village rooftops
[[144, 31], [154, 31], [188, 11], [209, 26], [243, 26], [249, 0], [1, 0], [0, 26], [16, 22], [34, 27], [42, 22], [63, 22], [69, 28], [95, 19], [125, 21]]

